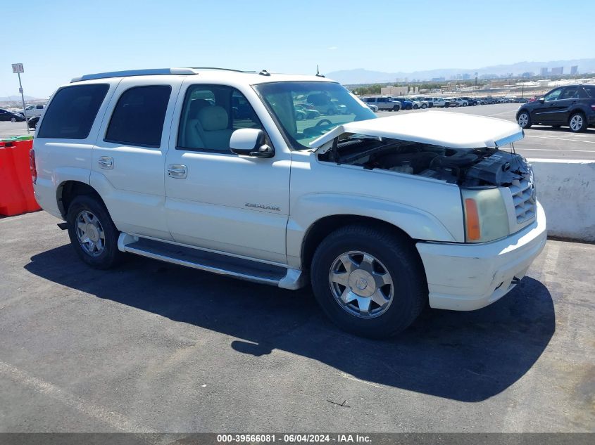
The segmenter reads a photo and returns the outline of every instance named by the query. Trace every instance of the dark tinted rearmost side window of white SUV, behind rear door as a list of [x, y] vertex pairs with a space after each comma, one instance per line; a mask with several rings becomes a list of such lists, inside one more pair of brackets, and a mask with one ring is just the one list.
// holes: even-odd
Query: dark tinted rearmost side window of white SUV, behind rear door
[[42, 120], [38, 138], [86, 139], [109, 85], [65, 86], [58, 90]]

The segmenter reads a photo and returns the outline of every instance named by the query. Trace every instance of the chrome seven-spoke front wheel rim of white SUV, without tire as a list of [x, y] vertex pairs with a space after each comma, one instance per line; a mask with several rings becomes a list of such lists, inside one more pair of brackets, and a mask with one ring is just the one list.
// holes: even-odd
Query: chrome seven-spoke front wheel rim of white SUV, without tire
[[394, 297], [393, 280], [386, 266], [358, 250], [341, 254], [334, 260], [329, 285], [339, 306], [361, 318], [381, 316]]

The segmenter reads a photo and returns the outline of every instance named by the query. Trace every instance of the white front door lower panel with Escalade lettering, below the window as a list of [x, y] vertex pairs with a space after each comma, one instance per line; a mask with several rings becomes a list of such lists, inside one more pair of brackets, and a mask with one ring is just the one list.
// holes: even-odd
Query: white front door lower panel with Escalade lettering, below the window
[[[168, 227], [178, 243], [285, 263], [289, 160], [170, 150], [165, 178]], [[263, 209], [261, 207], [271, 207]], [[277, 210], [278, 209], [278, 210]]]

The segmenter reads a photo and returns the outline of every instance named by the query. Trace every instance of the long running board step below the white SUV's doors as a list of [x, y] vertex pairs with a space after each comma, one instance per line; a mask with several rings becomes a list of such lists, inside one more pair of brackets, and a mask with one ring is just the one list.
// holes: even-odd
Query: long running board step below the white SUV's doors
[[302, 271], [297, 269], [206, 252], [196, 247], [142, 238], [128, 233], [120, 233], [118, 250], [283, 289], [302, 288], [307, 280]]

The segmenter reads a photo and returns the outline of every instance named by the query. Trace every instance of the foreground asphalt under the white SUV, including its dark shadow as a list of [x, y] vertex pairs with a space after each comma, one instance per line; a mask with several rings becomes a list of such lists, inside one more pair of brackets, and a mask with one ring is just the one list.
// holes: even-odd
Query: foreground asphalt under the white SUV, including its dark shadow
[[549, 240], [499, 302], [375, 342], [309, 289], [89, 269], [57, 222], [0, 219], [0, 432], [595, 431], [595, 245]]

